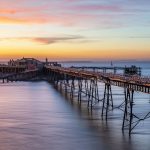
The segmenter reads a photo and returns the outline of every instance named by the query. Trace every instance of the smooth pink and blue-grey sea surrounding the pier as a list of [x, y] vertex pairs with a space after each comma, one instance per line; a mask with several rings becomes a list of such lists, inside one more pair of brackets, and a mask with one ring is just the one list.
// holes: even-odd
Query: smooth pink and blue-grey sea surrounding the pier
[[[150, 76], [150, 61], [61, 62], [63, 66], [131, 66]], [[121, 73], [121, 72], [118, 72]], [[99, 85], [103, 98], [104, 84]], [[114, 105], [124, 101], [123, 89], [112, 87]], [[122, 132], [123, 111], [114, 109], [108, 120], [101, 108], [87, 109], [46, 81], [0, 83], [0, 150], [150, 150], [150, 118]], [[133, 112], [150, 112], [150, 94], [135, 92]]]

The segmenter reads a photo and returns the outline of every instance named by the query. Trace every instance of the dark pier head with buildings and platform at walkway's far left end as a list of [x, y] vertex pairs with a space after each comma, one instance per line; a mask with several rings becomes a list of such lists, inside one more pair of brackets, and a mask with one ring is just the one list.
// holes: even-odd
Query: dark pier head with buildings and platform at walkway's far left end
[[10, 59], [8, 65], [0, 64], [0, 80], [2, 82], [9, 81], [28, 81], [38, 78], [43, 74], [43, 67], [45, 65], [61, 66], [57, 62], [39, 61], [34, 58], [21, 58], [14, 61]]

